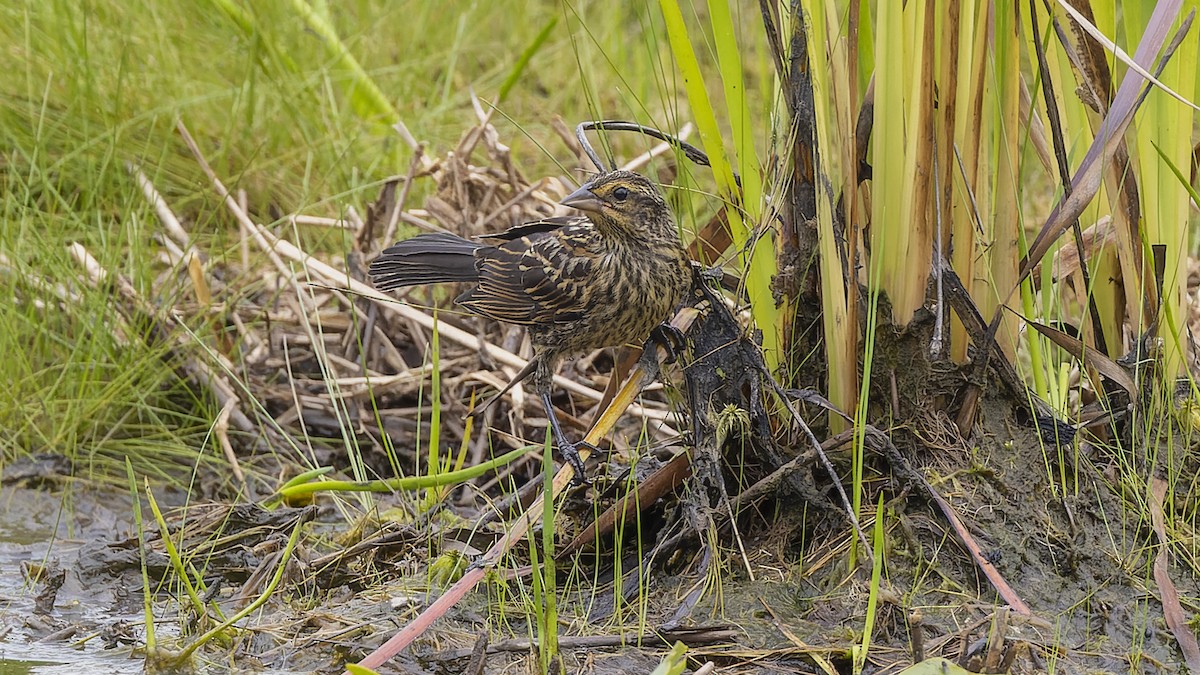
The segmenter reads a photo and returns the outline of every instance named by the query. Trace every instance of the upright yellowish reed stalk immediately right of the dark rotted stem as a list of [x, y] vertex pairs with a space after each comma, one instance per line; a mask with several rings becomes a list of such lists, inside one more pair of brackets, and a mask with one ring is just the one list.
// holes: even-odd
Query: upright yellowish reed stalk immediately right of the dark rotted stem
[[[839, 410], [851, 410], [858, 394], [858, 317], [851, 312], [852, 297], [846, 283], [854, 288], [858, 280], [853, 271], [842, 270], [834, 233], [834, 193], [845, 195], [847, 257], [858, 257], [858, 222], [852, 211], [858, 207], [856, 168], [854, 115], [858, 108], [857, 74], [851, 71], [850, 49], [836, 14], [835, 2], [814, 0], [809, 8], [812, 24], [808, 60], [811, 64], [812, 102], [816, 115], [816, 142], [820, 149], [815, 167], [817, 180], [828, 181], [833, 191], [817, 190], [817, 247], [821, 252], [821, 319], [824, 329], [826, 363], [828, 369], [829, 400]], [[785, 30], [788, 35], [791, 31]], [[827, 60], [828, 56], [828, 60]], [[836, 163], [834, 163], [836, 161]], [[841, 169], [840, 172], [836, 169]], [[851, 265], [853, 267], [853, 265]], [[830, 431], [845, 429], [846, 423], [838, 414], [829, 414]]]

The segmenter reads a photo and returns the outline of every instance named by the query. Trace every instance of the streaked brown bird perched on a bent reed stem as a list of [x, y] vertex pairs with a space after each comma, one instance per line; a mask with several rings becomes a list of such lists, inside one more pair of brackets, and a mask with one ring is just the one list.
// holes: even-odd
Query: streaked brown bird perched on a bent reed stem
[[[448, 233], [400, 241], [371, 263], [376, 288], [473, 283], [455, 300], [469, 312], [524, 325], [534, 347], [533, 389], [546, 408], [563, 458], [583, 480], [578, 447], [566, 440], [551, 402], [564, 358], [664, 339], [691, 285], [691, 268], [659, 189], [628, 171], [596, 175], [565, 199], [586, 216], [518, 225], [473, 241]], [[505, 388], [508, 389], [508, 387]]]

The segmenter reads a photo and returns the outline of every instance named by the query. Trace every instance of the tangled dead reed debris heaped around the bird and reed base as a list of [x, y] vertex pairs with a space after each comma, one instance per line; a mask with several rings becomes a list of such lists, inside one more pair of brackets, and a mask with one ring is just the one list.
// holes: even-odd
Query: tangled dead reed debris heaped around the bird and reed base
[[[587, 155], [565, 127], [562, 137], [577, 157]], [[473, 163], [479, 157], [482, 166]], [[660, 178], [670, 180], [672, 171]], [[421, 180], [436, 189], [418, 208], [409, 202]], [[413, 645], [398, 658], [414, 668], [452, 671], [475, 658], [490, 671], [536, 650], [516, 628], [532, 625], [536, 611], [514, 611], [514, 603], [529, 602], [524, 589], [538, 571], [528, 565], [533, 554], [541, 560], [524, 533], [542, 525], [532, 514], [544, 473], [529, 448], [541, 446], [546, 420], [527, 413], [538, 406], [520, 387], [472, 414], [474, 402], [524, 365], [528, 345], [517, 329], [454, 312], [452, 293], [414, 288], [397, 304], [361, 280], [365, 263], [402, 227], [480, 234], [556, 214], [572, 185], [565, 177], [527, 181], [484, 123], [444, 157], [414, 159], [406, 175], [383, 184], [364, 217], [347, 209], [340, 220], [278, 221], [275, 229], [288, 237], [311, 227], [343, 231], [347, 255], [324, 263], [296, 244], [302, 237], [280, 237], [228, 193], [245, 247], [262, 255], [205, 259], [145, 181], [169, 263], [157, 287], [182, 282], [194, 298], [170, 311], [77, 249], [92, 282], [113, 289], [120, 311], [114, 330], [155, 327], [154, 339], [170, 344], [181, 374], [224, 406], [215, 434], [233, 471], [224, 485], [205, 489], [241, 491], [253, 506], [191, 504], [168, 516], [168, 532], [185, 560], [203, 561], [211, 593], [205, 602], [227, 614], [254, 602], [274, 571], [288, 569], [265, 613], [246, 626], [257, 637], [229, 633], [239, 657], [296, 667], [287, 659], [301, 650], [312, 667], [359, 661], [397, 621], [409, 626], [404, 644]], [[721, 225], [718, 214], [698, 228], [695, 257], [728, 246]], [[948, 420], [928, 413], [926, 404], [961, 386], [965, 371], [925, 363], [919, 321], [907, 338], [881, 340], [876, 381], [892, 384], [878, 394], [907, 417], [865, 431], [872, 448], [866, 496], [884, 496], [888, 519], [884, 539], [869, 540], [876, 522], [848, 526], [853, 510], [838, 490], [853, 432], [814, 424], [827, 438], [820, 447], [809, 442], [799, 423], [820, 420], [832, 406], [775, 384], [737, 294], [713, 285], [736, 286], [736, 279], [697, 275], [694, 306], [676, 319], [689, 348], [664, 368], [664, 387], [646, 388], [625, 414], [610, 414], [648, 383], [649, 374], [636, 366], [626, 380], [636, 354], [592, 354], [558, 380], [568, 392], [559, 407], [574, 411], [569, 424], [577, 432], [589, 422], [602, 426], [595, 420], [605, 416], [607, 428], [616, 426], [606, 435], [601, 478], [566, 491], [554, 520], [557, 567], [566, 583], [558, 616], [569, 625], [560, 650], [613, 647], [598, 657], [608, 664], [601, 668], [628, 669], [654, 659], [618, 645], [682, 640], [694, 655], [726, 664], [842, 668], [859, 637], [839, 627], [862, 617], [870, 596], [870, 574], [851, 561], [869, 568], [872, 546], [882, 543], [888, 575], [874, 609], [871, 651], [878, 665], [944, 656], [976, 669], [1037, 671], [1055, 653], [1072, 667], [1108, 667], [1124, 662], [1135, 645], [1146, 659], [1172, 658], [1172, 640], [1140, 633], [1133, 621], [1139, 609], [1123, 604], [1136, 586], [1111, 551], [1141, 544], [1130, 531], [1114, 540], [1105, 526], [1105, 514], [1121, 513], [1121, 500], [1100, 483], [1087, 496], [1056, 494], [1037, 426], [1016, 422], [1026, 406], [1010, 390], [985, 388], [977, 443], [962, 444], [943, 432]], [[440, 307], [436, 334], [433, 307]], [[197, 328], [204, 325], [227, 330], [210, 336]], [[451, 450], [455, 466], [515, 454], [462, 488], [421, 484], [425, 497], [386, 494], [413, 484], [379, 484], [384, 494], [373, 500], [318, 497], [317, 507], [281, 508], [281, 500], [299, 506], [312, 492], [276, 494], [278, 486], [264, 482], [318, 466], [338, 467], [353, 485], [434, 473], [425, 456], [432, 437]], [[1081, 447], [1086, 466], [1103, 471], [1103, 450]], [[556, 479], [545, 491], [564, 488]], [[283, 542], [308, 520], [302, 545], [281, 556]], [[178, 578], [161, 534], [148, 538], [154, 581]], [[134, 540], [114, 542], [82, 556], [74, 573], [131, 584], [140, 568], [137, 550]], [[1168, 561], [1154, 563], [1156, 575], [1169, 577], [1168, 568]], [[484, 592], [467, 595], [476, 584]], [[1192, 586], [1186, 592], [1195, 592]], [[456, 587], [461, 592], [451, 592]], [[1080, 609], [1084, 598], [1094, 609]], [[433, 607], [439, 611], [430, 619], [442, 620], [420, 622]], [[1110, 616], [1099, 623], [1108, 646], [1096, 641], [1099, 611]], [[497, 622], [500, 615], [508, 623]], [[631, 632], [640, 616], [658, 629]], [[482, 647], [475, 640], [481, 632], [492, 635]], [[1082, 646], [1058, 653], [1062, 644]], [[218, 658], [228, 646], [199, 653]], [[480, 649], [491, 656], [480, 661]]]

